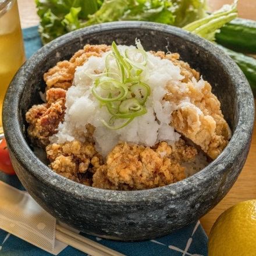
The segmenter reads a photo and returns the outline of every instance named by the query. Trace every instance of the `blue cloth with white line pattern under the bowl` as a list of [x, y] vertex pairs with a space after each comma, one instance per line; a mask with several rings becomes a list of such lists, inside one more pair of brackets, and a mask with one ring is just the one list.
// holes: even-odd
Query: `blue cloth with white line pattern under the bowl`
[[[37, 49], [41, 47], [40, 37], [37, 33], [37, 27], [30, 27], [23, 29], [23, 37], [26, 48], [26, 56], [29, 58]], [[8, 176], [0, 172], [0, 180], [6, 182], [18, 189], [24, 189], [22, 184], [16, 176]], [[7, 239], [6, 239], [7, 236]], [[133, 256], [182, 256], [182, 255], [204, 255], [207, 256], [207, 236], [202, 229], [199, 222], [192, 223], [183, 229], [177, 230], [176, 232], [163, 236], [161, 238], [143, 241], [137, 243], [123, 243], [108, 241], [105, 239], [99, 239], [98, 237], [84, 236], [97, 241], [98, 243], [104, 244], [104, 246], [110, 247], [113, 250], [119, 251], [125, 255]], [[4, 241], [4, 243], [3, 243]], [[1, 248], [2, 246], [2, 248]], [[187, 248], [187, 249], [185, 249]], [[8, 235], [3, 230], [0, 230], [0, 255], [5, 256], [48, 256], [51, 255], [40, 248], [32, 246], [26, 241], [20, 240], [19, 238]], [[60, 256], [72, 256], [72, 255], [85, 255], [80, 251], [67, 247], [63, 250]]]

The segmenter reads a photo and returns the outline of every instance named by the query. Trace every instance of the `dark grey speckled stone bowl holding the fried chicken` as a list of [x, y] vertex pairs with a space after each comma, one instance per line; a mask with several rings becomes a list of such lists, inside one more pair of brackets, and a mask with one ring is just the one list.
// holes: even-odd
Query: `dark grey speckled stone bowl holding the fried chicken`
[[[38, 104], [44, 72], [85, 44], [134, 44], [179, 52], [213, 87], [233, 136], [215, 161], [195, 175], [141, 191], [95, 189], [48, 168], [30, 148], [25, 113]], [[63, 35], [36, 52], [17, 72], [3, 106], [3, 125], [17, 176], [30, 195], [62, 222], [106, 239], [136, 241], [173, 232], [206, 214], [239, 176], [250, 147], [254, 99], [241, 70], [210, 42], [176, 27], [146, 22], [105, 23]]]

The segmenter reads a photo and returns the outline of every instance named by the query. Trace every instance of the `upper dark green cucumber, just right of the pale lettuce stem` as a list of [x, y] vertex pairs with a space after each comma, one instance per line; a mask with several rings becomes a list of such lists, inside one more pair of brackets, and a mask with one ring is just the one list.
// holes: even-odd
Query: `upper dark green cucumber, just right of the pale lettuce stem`
[[234, 19], [215, 34], [216, 42], [234, 51], [256, 54], [256, 21]]

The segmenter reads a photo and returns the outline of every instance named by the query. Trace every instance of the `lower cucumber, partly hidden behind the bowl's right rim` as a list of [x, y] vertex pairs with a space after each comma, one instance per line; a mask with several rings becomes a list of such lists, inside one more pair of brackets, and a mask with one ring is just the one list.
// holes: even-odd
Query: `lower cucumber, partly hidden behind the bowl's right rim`
[[227, 55], [229, 55], [234, 62], [240, 67], [245, 74], [248, 82], [250, 83], [251, 90], [253, 91], [254, 97], [256, 97], [256, 59], [253, 57], [246, 56], [240, 52], [234, 52], [230, 49], [218, 45]]

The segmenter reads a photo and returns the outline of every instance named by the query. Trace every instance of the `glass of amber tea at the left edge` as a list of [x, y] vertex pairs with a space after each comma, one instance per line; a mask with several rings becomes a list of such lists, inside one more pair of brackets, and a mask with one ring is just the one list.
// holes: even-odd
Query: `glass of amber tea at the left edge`
[[10, 81], [24, 61], [17, 0], [0, 0], [0, 133], [3, 133], [3, 98]]

